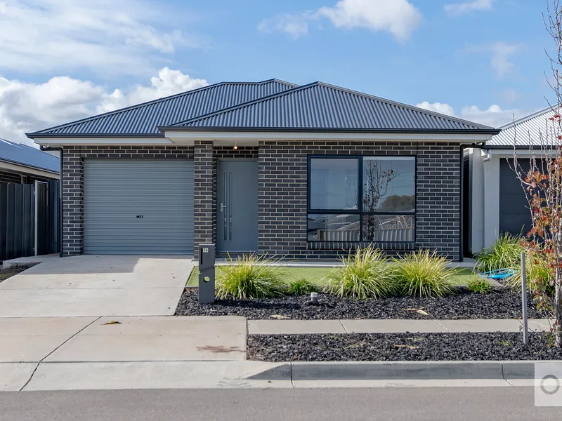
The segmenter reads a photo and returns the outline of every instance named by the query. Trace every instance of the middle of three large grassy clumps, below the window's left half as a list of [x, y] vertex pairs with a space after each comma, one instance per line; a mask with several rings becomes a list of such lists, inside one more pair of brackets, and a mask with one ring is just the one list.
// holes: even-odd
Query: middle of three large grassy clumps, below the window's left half
[[336, 267], [323, 279], [327, 293], [363, 300], [385, 298], [395, 293], [390, 266], [381, 250], [372, 246], [360, 248], [341, 262], [343, 267]]

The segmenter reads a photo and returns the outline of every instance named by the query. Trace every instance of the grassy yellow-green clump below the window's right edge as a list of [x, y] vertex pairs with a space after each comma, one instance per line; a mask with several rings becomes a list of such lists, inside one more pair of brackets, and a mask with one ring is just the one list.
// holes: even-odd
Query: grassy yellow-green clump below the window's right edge
[[450, 278], [454, 271], [447, 268], [447, 259], [429, 250], [395, 259], [398, 292], [412, 297], [442, 297], [455, 292]]

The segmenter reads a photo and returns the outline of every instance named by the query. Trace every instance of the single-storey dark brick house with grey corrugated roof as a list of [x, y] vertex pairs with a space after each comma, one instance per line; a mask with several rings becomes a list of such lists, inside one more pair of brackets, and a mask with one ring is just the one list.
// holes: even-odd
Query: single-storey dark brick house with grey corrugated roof
[[217, 83], [28, 136], [63, 156], [63, 254], [462, 256], [462, 156], [499, 133], [348, 89]]

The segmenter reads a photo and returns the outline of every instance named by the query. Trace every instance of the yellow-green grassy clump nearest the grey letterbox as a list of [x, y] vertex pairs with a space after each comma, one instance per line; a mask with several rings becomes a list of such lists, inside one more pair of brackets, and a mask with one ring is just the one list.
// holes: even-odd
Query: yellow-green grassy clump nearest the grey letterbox
[[230, 265], [219, 266], [216, 280], [217, 298], [270, 298], [283, 295], [285, 282], [281, 267], [255, 254], [243, 255]]

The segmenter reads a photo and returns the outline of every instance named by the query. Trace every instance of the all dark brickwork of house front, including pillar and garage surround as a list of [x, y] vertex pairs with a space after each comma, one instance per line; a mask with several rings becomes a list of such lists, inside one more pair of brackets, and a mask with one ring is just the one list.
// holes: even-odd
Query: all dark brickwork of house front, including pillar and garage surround
[[[220, 159], [259, 159], [259, 253], [285, 258], [335, 258], [338, 250], [306, 241], [306, 165], [313, 154], [417, 156], [416, 246], [459, 258], [459, 145], [447, 142], [265, 142], [259, 147], [65, 147], [63, 251], [84, 250], [84, 159], [194, 159], [195, 255], [199, 243], [216, 241], [216, 166]], [[381, 245], [389, 254], [404, 248]]]

